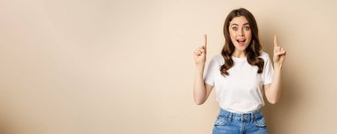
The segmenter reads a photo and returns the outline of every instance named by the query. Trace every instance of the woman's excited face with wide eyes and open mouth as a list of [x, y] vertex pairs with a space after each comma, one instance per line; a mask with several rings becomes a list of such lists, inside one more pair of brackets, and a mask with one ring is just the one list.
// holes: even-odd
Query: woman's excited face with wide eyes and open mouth
[[252, 32], [247, 19], [243, 16], [233, 18], [228, 29], [235, 51], [244, 52], [252, 40]]

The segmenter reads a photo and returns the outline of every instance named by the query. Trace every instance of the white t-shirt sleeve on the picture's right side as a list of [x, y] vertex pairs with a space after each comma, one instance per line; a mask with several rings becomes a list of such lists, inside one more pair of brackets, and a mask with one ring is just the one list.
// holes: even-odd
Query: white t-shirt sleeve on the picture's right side
[[270, 57], [267, 54], [264, 59], [264, 67], [263, 67], [263, 85], [269, 85], [272, 82], [272, 78], [274, 78], [274, 68], [270, 62]]

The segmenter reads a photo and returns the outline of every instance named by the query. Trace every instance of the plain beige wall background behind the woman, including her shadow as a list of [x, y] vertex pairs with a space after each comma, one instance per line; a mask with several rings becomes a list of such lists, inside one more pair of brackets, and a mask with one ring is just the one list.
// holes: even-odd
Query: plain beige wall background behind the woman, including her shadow
[[[207, 134], [213, 92], [192, 100], [192, 51], [223, 47], [233, 9], [253, 12], [263, 50], [287, 50], [271, 134], [333, 133], [336, 3], [325, 1], [1, 0], [1, 134]], [[272, 56], [272, 53], [270, 53]]]

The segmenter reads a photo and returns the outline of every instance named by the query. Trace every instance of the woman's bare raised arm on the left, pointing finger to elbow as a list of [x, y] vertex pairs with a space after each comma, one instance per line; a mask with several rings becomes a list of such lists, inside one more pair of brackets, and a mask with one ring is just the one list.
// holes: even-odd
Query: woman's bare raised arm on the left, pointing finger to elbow
[[194, 76], [194, 88], [193, 88], [193, 98], [197, 105], [203, 104], [212, 91], [213, 86], [205, 84], [203, 74], [206, 63], [206, 53], [207, 53], [207, 35], [205, 34], [205, 42], [200, 48], [194, 51], [194, 62], [196, 65], [195, 76]]

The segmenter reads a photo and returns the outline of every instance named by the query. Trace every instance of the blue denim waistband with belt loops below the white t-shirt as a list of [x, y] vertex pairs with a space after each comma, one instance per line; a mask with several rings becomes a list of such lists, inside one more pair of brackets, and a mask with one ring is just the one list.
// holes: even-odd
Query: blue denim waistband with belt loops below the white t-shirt
[[223, 108], [220, 108], [220, 113], [219, 115], [222, 115], [224, 117], [227, 117], [231, 120], [239, 120], [239, 121], [254, 121], [255, 118], [259, 118], [261, 116], [263, 116], [263, 112], [261, 109], [252, 111], [252, 112], [248, 112], [248, 113], [242, 113], [242, 114], [238, 114], [238, 113], [231, 113], [230, 111], [227, 111]]

